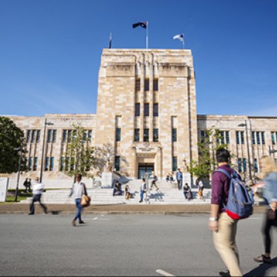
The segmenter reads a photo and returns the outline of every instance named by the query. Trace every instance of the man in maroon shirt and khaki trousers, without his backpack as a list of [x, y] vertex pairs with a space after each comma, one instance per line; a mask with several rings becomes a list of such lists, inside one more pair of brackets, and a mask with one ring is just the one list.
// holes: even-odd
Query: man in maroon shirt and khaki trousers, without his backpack
[[[226, 149], [216, 151], [218, 169], [223, 169], [231, 175], [233, 169], [229, 166], [230, 153]], [[215, 171], [212, 176], [211, 216], [209, 228], [213, 231], [213, 243], [222, 261], [228, 268], [220, 271], [220, 276], [242, 276], [238, 247], [235, 242], [238, 220], [233, 220], [224, 210], [228, 202], [231, 179], [224, 173]]]

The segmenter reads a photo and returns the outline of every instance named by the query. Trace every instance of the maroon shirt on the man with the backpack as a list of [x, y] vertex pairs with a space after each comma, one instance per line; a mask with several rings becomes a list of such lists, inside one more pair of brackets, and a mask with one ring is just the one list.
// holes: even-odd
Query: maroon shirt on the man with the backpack
[[[219, 166], [218, 168], [222, 168], [229, 172], [230, 174], [233, 172], [232, 168], [229, 165]], [[218, 169], [217, 168], [217, 169]], [[230, 179], [224, 173], [215, 171], [212, 176], [212, 197], [211, 204], [220, 205], [219, 211], [220, 213], [224, 212], [224, 205], [227, 204], [228, 194], [230, 188]]]

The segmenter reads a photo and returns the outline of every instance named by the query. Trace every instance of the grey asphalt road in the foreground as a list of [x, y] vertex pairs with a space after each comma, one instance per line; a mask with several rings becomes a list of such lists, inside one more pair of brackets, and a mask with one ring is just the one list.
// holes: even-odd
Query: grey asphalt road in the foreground
[[[218, 276], [225, 269], [208, 215], [0, 215], [0, 276]], [[260, 266], [262, 215], [241, 220], [238, 248], [247, 276], [277, 276]], [[276, 234], [274, 234], [276, 238]], [[162, 271], [159, 271], [162, 270]]]

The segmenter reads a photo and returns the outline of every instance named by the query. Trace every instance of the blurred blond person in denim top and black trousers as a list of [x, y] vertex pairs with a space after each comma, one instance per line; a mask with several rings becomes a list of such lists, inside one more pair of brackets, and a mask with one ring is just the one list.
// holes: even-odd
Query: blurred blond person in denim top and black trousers
[[262, 235], [265, 244], [265, 254], [254, 258], [256, 262], [271, 264], [271, 235], [272, 226], [277, 226], [277, 166], [269, 156], [260, 159], [260, 170], [265, 186], [262, 188], [262, 196], [267, 202], [267, 211], [262, 225]]

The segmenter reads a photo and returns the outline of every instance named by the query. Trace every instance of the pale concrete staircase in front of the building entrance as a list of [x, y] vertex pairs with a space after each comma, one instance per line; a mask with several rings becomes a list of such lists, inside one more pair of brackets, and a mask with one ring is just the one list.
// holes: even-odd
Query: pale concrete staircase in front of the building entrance
[[[165, 182], [166, 183], [166, 182]], [[141, 180], [129, 182], [130, 192], [133, 194], [131, 199], [125, 199], [124, 195], [112, 196], [112, 188], [87, 188], [88, 195], [91, 195], [91, 204], [107, 205], [107, 204], [210, 204], [211, 189], [204, 189], [204, 197], [206, 201], [199, 199], [197, 196], [197, 188], [193, 188], [193, 199], [186, 200], [183, 190], [178, 190], [174, 184], [158, 184], [160, 190], [156, 191], [154, 187], [152, 191], [144, 195], [143, 203], [139, 203], [139, 184]], [[123, 191], [125, 185], [123, 185]], [[75, 204], [73, 197], [69, 197], [70, 190], [47, 190], [42, 195], [42, 202], [45, 204]], [[29, 204], [31, 197], [22, 200], [20, 203]]]

